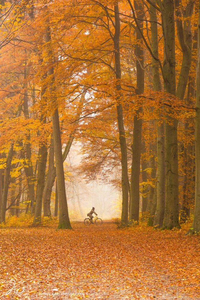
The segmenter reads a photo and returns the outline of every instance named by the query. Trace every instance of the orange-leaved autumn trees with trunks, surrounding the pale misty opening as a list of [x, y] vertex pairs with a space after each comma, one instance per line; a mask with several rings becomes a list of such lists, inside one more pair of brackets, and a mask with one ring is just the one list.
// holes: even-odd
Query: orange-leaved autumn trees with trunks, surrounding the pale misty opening
[[71, 229], [65, 161], [78, 145], [76, 172], [121, 193], [122, 227], [141, 212], [198, 233], [199, 2], [0, 3], [0, 223], [59, 215]]

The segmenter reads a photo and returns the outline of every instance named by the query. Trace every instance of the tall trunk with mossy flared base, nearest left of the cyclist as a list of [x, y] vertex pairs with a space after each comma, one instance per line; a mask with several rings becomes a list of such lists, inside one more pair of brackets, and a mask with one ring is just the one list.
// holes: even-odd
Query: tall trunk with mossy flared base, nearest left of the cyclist
[[[47, 10], [47, 7], [45, 7]], [[47, 12], [48, 13], [48, 12]], [[53, 61], [52, 49], [51, 49], [51, 34], [49, 27], [49, 19], [47, 16], [46, 20], [46, 32], [45, 32], [45, 43], [48, 50], [49, 60]], [[52, 63], [48, 63], [48, 77], [49, 79], [49, 95], [52, 98], [52, 107], [54, 112], [52, 113], [52, 127], [53, 127], [53, 140], [54, 140], [54, 151], [55, 151], [55, 165], [56, 165], [56, 177], [58, 185], [58, 201], [59, 201], [59, 223], [58, 229], [72, 229], [67, 208], [67, 198], [65, 191], [65, 179], [64, 179], [64, 167], [62, 158], [62, 144], [61, 144], [61, 133], [60, 123], [58, 115], [58, 104], [56, 99], [56, 88], [54, 78], [54, 67]]]

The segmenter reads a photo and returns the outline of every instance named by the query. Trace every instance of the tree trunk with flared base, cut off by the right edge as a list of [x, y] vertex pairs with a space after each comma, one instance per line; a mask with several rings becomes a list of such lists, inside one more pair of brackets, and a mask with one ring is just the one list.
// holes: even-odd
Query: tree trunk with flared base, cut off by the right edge
[[194, 218], [188, 233], [200, 232], [200, 0], [198, 18], [198, 51], [196, 64], [196, 122], [195, 122], [195, 209]]

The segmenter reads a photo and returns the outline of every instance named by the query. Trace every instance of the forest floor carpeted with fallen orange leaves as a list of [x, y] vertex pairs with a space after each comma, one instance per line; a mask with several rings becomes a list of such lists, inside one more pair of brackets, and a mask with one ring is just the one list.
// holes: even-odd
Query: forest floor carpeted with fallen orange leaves
[[0, 299], [199, 299], [200, 238], [184, 236], [190, 225], [0, 229]]

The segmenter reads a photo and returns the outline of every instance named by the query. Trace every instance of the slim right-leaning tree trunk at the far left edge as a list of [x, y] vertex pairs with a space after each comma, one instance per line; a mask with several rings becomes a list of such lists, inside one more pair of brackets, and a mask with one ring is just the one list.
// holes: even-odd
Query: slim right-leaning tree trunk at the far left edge
[[5, 214], [6, 214], [6, 206], [7, 206], [7, 194], [8, 188], [10, 184], [10, 169], [11, 169], [11, 161], [13, 157], [13, 145], [11, 142], [10, 148], [7, 155], [6, 168], [5, 168], [5, 176], [4, 176], [4, 191], [2, 196], [2, 205], [0, 211], [0, 223], [5, 222]]

